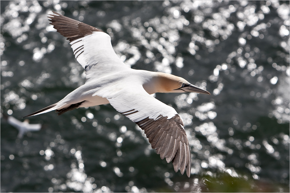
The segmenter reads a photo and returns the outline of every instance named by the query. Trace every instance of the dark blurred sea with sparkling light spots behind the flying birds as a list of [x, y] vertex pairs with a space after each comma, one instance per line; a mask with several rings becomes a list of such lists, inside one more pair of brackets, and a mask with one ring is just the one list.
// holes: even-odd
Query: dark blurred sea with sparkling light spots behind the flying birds
[[[208, 90], [156, 98], [177, 110], [191, 176], [111, 105], [7, 116], [84, 84], [52, 10], [108, 33], [128, 66]], [[1, 192], [289, 192], [289, 1], [1, 1]], [[96, 45], [97, 46], [97, 45]]]

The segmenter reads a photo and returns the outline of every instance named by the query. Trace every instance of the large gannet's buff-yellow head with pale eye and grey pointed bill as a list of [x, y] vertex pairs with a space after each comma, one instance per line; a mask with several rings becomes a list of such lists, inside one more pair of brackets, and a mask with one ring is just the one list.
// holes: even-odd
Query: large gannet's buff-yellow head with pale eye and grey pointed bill
[[210, 93], [189, 83], [184, 78], [167, 73], [158, 73], [158, 92], [196, 92], [201, 94]]

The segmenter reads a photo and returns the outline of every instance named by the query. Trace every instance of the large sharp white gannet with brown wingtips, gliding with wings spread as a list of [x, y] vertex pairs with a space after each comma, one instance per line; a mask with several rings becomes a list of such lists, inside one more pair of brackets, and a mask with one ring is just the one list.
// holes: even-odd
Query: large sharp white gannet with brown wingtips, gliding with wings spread
[[150, 94], [156, 92], [197, 92], [210, 94], [171, 74], [135, 70], [126, 66], [116, 55], [111, 37], [82, 22], [56, 15], [51, 24], [70, 41], [77, 61], [86, 71], [86, 83], [61, 101], [28, 116], [56, 110], [58, 115], [79, 107], [110, 103], [117, 111], [145, 131], [151, 147], [161, 159], [173, 161], [175, 172], [187, 176], [191, 171], [191, 154], [182, 120], [174, 108]]

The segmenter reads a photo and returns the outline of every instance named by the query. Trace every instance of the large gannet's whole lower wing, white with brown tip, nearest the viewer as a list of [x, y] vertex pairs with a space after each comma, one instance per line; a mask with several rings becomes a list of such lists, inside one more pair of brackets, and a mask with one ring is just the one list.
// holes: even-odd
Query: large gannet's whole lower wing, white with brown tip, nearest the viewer
[[168, 163], [173, 160], [175, 172], [180, 169], [183, 174], [186, 168], [187, 176], [190, 176], [189, 143], [182, 120], [174, 108], [149, 95], [141, 85], [123, 85], [122, 89], [106, 98], [117, 111], [145, 131], [151, 147], [156, 149], [161, 159], [166, 158]]

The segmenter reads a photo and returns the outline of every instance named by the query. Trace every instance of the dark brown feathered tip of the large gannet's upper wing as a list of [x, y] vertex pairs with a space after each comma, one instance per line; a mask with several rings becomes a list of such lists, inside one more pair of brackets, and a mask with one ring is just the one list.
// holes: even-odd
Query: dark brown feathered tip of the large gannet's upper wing
[[53, 28], [56, 29], [56, 31], [61, 35], [65, 36], [70, 42], [90, 35], [93, 31], [102, 31], [83, 22], [65, 17], [55, 11], [52, 12], [56, 15], [51, 15], [52, 17], [48, 17], [50, 18], [49, 21], [51, 21], [50, 24], [53, 25]]

